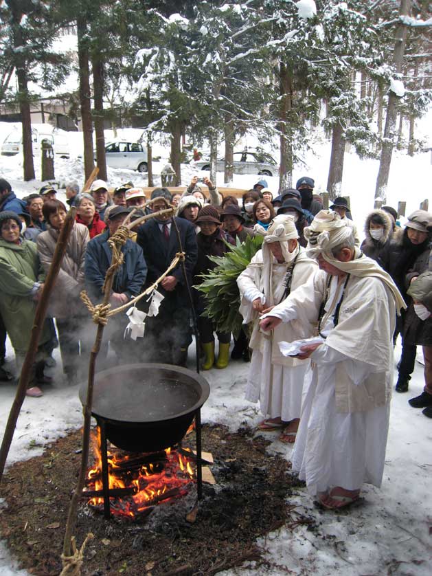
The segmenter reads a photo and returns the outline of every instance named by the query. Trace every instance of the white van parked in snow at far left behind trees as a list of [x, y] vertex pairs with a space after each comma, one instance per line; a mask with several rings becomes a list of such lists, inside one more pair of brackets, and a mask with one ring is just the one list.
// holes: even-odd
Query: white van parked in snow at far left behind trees
[[[51, 124], [32, 124], [33, 155], [41, 153], [42, 140], [49, 140], [54, 153], [61, 158], [69, 158], [69, 142], [67, 132]], [[14, 128], [1, 145], [1, 155], [14, 156], [23, 151], [23, 133], [21, 126]]]

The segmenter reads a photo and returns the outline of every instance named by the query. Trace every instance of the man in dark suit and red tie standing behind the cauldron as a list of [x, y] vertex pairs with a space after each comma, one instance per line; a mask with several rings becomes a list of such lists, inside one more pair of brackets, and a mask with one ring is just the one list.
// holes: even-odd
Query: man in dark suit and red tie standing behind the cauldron
[[[153, 190], [152, 198], [159, 196], [171, 201], [170, 192], [166, 188]], [[165, 208], [167, 206], [163, 200], [157, 200], [152, 205], [153, 212]], [[174, 221], [179, 229], [181, 247], [173, 225]], [[137, 243], [141, 246], [148, 265], [144, 288], [152, 285], [166, 271], [181, 248], [186, 254], [187, 281], [192, 286], [192, 271], [196, 263], [197, 247], [195, 228], [189, 221], [168, 215], [152, 218], [139, 227]], [[185, 366], [187, 342], [190, 341], [190, 299], [180, 263], [163, 278], [158, 291], [163, 294], [164, 298], [158, 315], [146, 319], [144, 335], [146, 359], [148, 362]]]

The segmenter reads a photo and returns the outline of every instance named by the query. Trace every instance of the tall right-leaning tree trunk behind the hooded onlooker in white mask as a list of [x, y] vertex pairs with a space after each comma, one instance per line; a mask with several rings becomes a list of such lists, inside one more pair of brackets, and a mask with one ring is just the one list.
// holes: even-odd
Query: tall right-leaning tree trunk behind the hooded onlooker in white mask
[[[400, 0], [399, 14], [409, 16], [411, 10], [411, 0]], [[407, 26], [401, 21], [396, 30], [396, 43], [393, 53], [393, 63], [396, 71], [402, 67], [402, 58], [405, 52], [405, 43], [407, 40]], [[389, 93], [389, 102], [387, 104], [387, 115], [385, 118], [385, 129], [383, 144], [381, 146], [380, 167], [378, 177], [376, 178], [375, 197], [380, 198], [383, 202], [387, 195], [387, 183], [389, 181], [391, 155], [393, 153], [394, 129], [396, 126], [396, 103], [398, 96], [394, 92]]]

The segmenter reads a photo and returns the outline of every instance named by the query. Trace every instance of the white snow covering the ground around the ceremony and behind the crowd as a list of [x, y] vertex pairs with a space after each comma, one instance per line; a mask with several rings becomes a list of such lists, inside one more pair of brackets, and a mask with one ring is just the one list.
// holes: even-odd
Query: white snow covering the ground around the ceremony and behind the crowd
[[[0, 140], [4, 126], [0, 124]], [[109, 135], [107, 135], [109, 136]], [[126, 135], [125, 135], [126, 137]], [[78, 149], [78, 139], [74, 150]], [[255, 142], [247, 142], [253, 146]], [[242, 146], [245, 142], [242, 142]], [[160, 144], [157, 154], [161, 162], [155, 166], [158, 172], [168, 159], [168, 146]], [[82, 161], [78, 153], [69, 160], [56, 159], [56, 181], [63, 188], [69, 180], [83, 181]], [[330, 148], [328, 142], [315, 146], [305, 158], [306, 168], [295, 170], [294, 182], [308, 174], [315, 178], [317, 190], [325, 190], [328, 175]], [[36, 171], [40, 170], [36, 162]], [[182, 167], [183, 181], [194, 175], [192, 165]], [[358, 228], [363, 228], [367, 212], [374, 206], [374, 188], [378, 162], [360, 160], [354, 153], [345, 155], [343, 195], [349, 195], [352, 214]], [[395, 152], [391, 164], [387, 204], [397, 208], [398, 201], [407, 202], [409, 214], [416, 210], [420, 201], [429, 197], [431, 178], [431, 153], [413, 158]], [[40, 174], [40, 172], [38, 172]], [[22, 157], [0, 157], [0, 177], [8, 179], [19, 197], [38, 190], [40, 181], [24, 183], [22, 180]], [[131, 179], [134, 184], [146, 185], [143, 175], [130, 170], [109, 170], [112, 186]], [[266, 178], [269, 188], [277, 192], [277, 178]], [[234, 177], [236, 188], [251, 188], [258, 177], [254, 175]], [[218, 184], [223, 175], [218, 174]], [[64, 192], [60, 189], [60, 199]], [[420, 348], [419, 348], [420, 351]], [[55, 351], [58, 362], [58, 350]], [[396, 348], [396, 360], [400, 348]], [[8, 361], [13, 364], [9, 351]], [[255, 406], [244, 399], [248, 365], [231, 362], [226, 370], [209, 370], [205, 373], [211, 387], [211, 395], [203, 408], [204, 422], [218, 422], [236, 430], [240, 423], [255, 425], [260, 415]], [[193, 359], [190, 361], [193, 369]], [[395, 370], [396, 373], [396, 370]], [[41, 454], [43, 446], [71, 428], [82, 423], [82, 414], [76, 386], [69, 387], [60, 377], [59, 368], [54, 369], [55, 384], [39, 399], [26, 398], [10, 450], [8, 464]], [[299, 526], [293, 531], [280, 529], [260, 541], [273, 568], [256, 569], [253, 564], [226, 574], [257, 575], [293, 573], [295, 575], [414, 575], [430, 576], [432, 573], [432, 500], [430, 498], [432, 472], [432, 421], [421, 410], [410, 408], [407, 399], [420, 394], [423, 387], [422, 366], [416, 369], [410, 382], [408, 394], [394, 394], [391, 405], [389, 441], [385, 474], [381, 489], [365, 487], [363, 505], [349, 512], [332, 513], [318, 511], [313, 507], [306, 489], [297, 489], [290, 502], [294, 514], [310, 515], [319, 523], [317, 534]], [[0, 384], [0, 430], [14, 397], [14, 386]], [[269, 450], [290, 458], [291, 448], [282, 445], [276, 434], [269, 433], [274, 441]], [[204, 440], [205, 442], [205, 440]], [[4, 544], [0, 543], [0, 575], [24, 575], [10, 558]]]

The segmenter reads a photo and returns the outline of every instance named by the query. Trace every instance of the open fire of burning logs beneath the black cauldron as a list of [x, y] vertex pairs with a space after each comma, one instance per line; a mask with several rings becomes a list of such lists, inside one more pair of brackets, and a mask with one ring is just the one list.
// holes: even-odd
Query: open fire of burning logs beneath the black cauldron
[[[95, 464], [87, 473], [83, 496], [98, 511], [104, 510], [102, 496], [102, 457], [100, 431], [92, 439]], [[190, 456], [188, 456], [190, 454]], [[185, 496], [195, 474], [190, 450], [172, 450], [150, 454], [125, 453], [114, 446], [108, 450], [109, 494], [111, 513], [117, 517], [147, 516], [161, 502]]]

